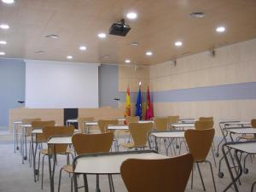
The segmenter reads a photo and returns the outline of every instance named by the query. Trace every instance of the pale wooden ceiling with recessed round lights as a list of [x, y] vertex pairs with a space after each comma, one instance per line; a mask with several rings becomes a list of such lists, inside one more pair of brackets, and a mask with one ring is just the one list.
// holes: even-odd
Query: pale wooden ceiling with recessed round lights
[[[125, 38], [97, 37], [98, 32], [108, 34], [111, 24], [129, 11], [137, 12], [137, 20], [126, 20], [131, 31]], [[206, 16], [191, 18], [194, 11]], [[131, 64], [151, 65], [256, 38], [255, 19], [255, 0], [15, 0], [0, 2], [0, 23], [10, 26], [0, 30], [0, 40], [7, 41], [0, 51], [14, 58], [67, 61], [73, 55], [73, 61], [123, 64], [130, 59]], [[218, 34], [217, 26], [226, 32]], [[60, 38], [45, 38], [48, 34]], [[182, 47], [174, 46], [177, 40]], [[150, 57], [148, 50], [153, 51]]]

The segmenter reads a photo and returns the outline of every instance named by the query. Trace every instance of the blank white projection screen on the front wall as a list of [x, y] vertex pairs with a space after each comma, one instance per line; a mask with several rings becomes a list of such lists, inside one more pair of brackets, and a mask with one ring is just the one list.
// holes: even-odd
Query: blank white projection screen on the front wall
[[26, 60], [26, 108], [98, 108], [98, 66]]

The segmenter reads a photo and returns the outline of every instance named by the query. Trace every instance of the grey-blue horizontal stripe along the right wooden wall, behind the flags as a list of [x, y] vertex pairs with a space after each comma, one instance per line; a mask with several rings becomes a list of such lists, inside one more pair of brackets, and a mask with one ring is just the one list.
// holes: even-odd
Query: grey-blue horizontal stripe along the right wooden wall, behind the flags
[[[119, 92], [120, 102], [125, 102], [125, 94], [125, 92]], [[146, 98], [147, 93], [143, 93], [143, 102], [146, 102]], [[137, 92], [132, 92], [131, 102], [136, 102], [136, 99]], [[256, 99], [256, 82], [151, 92], [151, 100], [153, 102], [203, 102], [248, 99]]]

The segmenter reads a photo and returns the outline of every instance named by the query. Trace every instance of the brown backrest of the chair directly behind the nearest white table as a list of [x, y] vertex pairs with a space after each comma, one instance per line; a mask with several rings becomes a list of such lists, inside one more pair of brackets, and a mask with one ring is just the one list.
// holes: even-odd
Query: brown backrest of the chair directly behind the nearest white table
[[113, 133], [76, 134], [72, 137], [72, 143], [77, 154], [109, 152], [113, 143]]

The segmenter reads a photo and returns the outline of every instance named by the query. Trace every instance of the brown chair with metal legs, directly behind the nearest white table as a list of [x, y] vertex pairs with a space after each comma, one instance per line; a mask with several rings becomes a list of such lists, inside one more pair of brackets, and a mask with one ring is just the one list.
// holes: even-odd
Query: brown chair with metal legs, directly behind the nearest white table
[[[91, 153], [104, 153], [109, 152], [113, 143], [113, 133], [101, 133], [101, 134], [76, 134], [72, 137], [73, 147], [77, 154], [91, 154]], [[61, 189], [61, 172], [64, 170], [67, 173], [73, 173], [73, 166], [66, 165], [61, 168], [58, 192]], [[98, 175], [96, 176], [97, 182], [99, 181]], [[85, 188], [88, 191], [88, 184], [86, 175], [84, 175]], [[71, 177], [71, 190], [73, 191], [73, 177]]]

